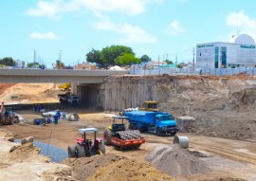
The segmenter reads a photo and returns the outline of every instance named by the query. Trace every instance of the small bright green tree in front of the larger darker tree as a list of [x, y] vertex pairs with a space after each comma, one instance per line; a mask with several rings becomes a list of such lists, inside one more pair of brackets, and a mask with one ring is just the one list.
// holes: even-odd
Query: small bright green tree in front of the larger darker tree
[[131, 65], [131, 64], [138, 64], [140, 63], [140, 60], [135, 57], [132, 53], [125, 53], [121, 56], [119, 56], [115, 62], [121, 66], [123, 65]]

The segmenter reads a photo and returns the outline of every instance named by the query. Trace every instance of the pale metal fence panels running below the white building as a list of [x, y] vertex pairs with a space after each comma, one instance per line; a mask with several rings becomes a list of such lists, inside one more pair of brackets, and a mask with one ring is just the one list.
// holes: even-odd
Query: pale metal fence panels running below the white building
[[246, 73], [254, 76], [256, 74], [255, 67], [236, 67], [236, 68], [133, 68], [129, 71], [133, 75], [188, 75], [188, 74], [209, 74], [215, 76], [235, 75], [239, 73]]

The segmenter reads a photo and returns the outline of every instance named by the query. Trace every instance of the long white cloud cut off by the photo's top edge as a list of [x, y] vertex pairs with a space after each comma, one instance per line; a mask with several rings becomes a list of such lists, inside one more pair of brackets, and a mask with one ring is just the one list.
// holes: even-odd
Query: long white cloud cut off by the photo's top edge
[[66, 11], [89, 9], [95, 14], [102, 12], [119, 12], [126, 15], [137, 15], [145, 11], [149, 3], [161, 3], [162, 0], [53, 0], [51, 2], [40, 0], [37, 8], [28, 9], [27, 14], [38, 17], [60, 18], [60, 14]]

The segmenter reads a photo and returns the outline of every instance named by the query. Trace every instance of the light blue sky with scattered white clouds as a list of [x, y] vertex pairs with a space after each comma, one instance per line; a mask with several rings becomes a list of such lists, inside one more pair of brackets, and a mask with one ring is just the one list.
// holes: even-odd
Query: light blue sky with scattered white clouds
[[40, 63], [85, 61], [92, 48], [133, 48], [160, 61], [192, 62], [196, 44], [256, 40], [255, 0], [2, 0], [0, 58]]

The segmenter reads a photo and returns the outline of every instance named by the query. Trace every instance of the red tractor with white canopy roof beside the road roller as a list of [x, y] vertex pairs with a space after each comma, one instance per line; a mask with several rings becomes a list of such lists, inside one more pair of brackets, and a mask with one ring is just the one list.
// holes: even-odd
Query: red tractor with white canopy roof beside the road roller
[[[79, 129], [82, 134], [81, 138], [77, 138], [76, 146], [67, 148], [69, 157], [89, 157], [95, 154], [105, 154], [105, 145], [101, 138], [96, 138], [97, 128], [82, 128]], [[86, 134], [94, 133], [94, 140], [87, 139]]]

